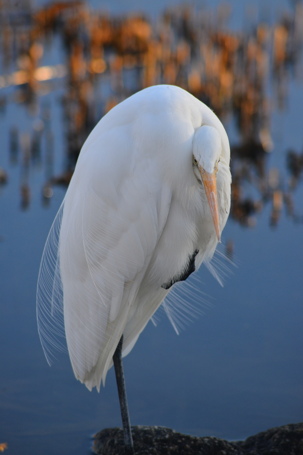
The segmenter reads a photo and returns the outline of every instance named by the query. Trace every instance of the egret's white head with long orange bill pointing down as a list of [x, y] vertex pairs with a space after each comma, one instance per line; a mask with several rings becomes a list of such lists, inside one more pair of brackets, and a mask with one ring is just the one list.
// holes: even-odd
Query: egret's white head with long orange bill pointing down
[[221, 240], [216, 174], [221, 152], [219, 131], [212, 126], [200, 126], [193, 140], [193, 170], [197, 179], [203, 182], [219, 243]]

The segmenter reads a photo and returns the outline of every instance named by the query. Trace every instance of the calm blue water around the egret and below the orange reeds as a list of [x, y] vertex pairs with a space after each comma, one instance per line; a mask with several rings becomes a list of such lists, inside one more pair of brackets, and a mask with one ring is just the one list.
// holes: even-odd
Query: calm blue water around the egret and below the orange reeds
[[[118, 3], [116, 3], [118, 5]], [[54, 174], [64, 167], [62, 91], [45, 95], [52, 111]], [[286, 151], [303, 145], [303, 86], [291, 82], [288, 107], [274, 110], [269, 166], [285, 180]], [[20, 162], [9, 159], [9, 129], [30, 131], [35, 116], [9, 103], [0, 114], [0, 442], [11, 455], [82, 455], [91, 435], [121, 426], [113, 369], [100, 394], [77, 382], [67, 354], [51, 368], [39, 341], [35, 298], [44, 243], [64, 189], [42, 204], [42, 166], [30, 167], [31, 202], [20, 208]], [[236, 134], [227, 125], [230, 141]], [[303, 185], [295, 192], [302, 220]], [[209, 305], [180, 335], [162, 313], [124, 359], [132, 425], [164, 425], [195, 435], [242, 439], [269, 427], [303, 420], [303, 224], [283, 212], [269, 226], [270, 203], [254, 229], [229, 220], [224, 239], [235, 243], [237, 268], [221, 288], [202, 266], [200, 288]]]

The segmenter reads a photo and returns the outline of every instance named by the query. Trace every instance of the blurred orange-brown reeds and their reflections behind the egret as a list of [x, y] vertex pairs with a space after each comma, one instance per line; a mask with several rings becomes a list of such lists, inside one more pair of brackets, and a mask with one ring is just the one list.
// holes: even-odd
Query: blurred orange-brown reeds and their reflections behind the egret
[[[66, 168], [54, 177], [50, 108], [42, 106], [41, 119], [34, 122], [31, 135], [20, 136], [23, 208], [30, 200], [29, 166], [41, 165], [43, 136], [46, 169], [42, 193], [47, 205], [54, 184], [68, 185], [81, 147], [98, 120], [136, 91], [167, 83], [191, 92], [223, 122], [232, 116], [236, 119], [240, 141], [231, 148], [232, 217], [253, 227], [255, 214], [271, 202], [272, 226], [278, 223], [284, 206], [288, 216], [298, 220], [292, 194], [303, 170], [303, 155], [288, 152], [291, 177], [287, 183], [277, 169], [267, 169], [267, 161], [274, 149], [270, 132], [273, 102], [283, 109], [290, 78], [300, 79], [303, 73], [302, 2], [296, 3], [292, 15], [285, 13], [274, 25], [260, 22], [240, 32], [226, 27], [231, 10], [226, 3], [216, 14], [188, 5], [170, 8], [153, 24], [142, 15], [110, 17], [89, 10], [80, 1], [53, 3], [37, 11], [26, 0], [16, 5], [8, 0], [0, 4], [0, 89], [16, 86], [13, 92], [3, 91], [0, 105], [21, 102], [29, 114], [37, 116], [39, 96], [57, 88], [61, 80], [66, 137]], [[54, 36], [64, 45], [66, 62], [41, 66], [44, 50]], [[269, 98], [270, 83], [274, 99]], [[17, 162], [18, 152], [18, 129], [12, 126], [11, 164]], [[247, 182], [258, 197], [246, 197]]]

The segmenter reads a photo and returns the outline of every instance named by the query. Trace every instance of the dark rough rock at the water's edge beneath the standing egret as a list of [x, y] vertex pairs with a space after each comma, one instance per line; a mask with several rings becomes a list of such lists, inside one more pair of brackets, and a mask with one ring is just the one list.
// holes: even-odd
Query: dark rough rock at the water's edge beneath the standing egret
[[[100, 455], [124, 455], [121, 428], [106, 428], [94, 436], [93, 451]], [[132, 427], [136, 455], [302, 455], [303, 423], [289, 424], [227, 441], [214, 436], [183, 435], [161, 426]]]

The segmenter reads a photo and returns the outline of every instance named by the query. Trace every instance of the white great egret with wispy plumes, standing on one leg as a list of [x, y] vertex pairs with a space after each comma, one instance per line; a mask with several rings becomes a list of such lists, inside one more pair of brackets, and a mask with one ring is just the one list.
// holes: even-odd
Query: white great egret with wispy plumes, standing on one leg
[[[99, 121], [42, 258], [37, 311], [48, 360], [62, 310], [76, 378], [99, 391], [116, 352], [119, 388], [121, 349], [131, 351], [172, 284], [220, 242], [230, 212], [229, 162], [220, 120], [176, 86], [146, 88]], [[129, 418], [125, 435], [127, 425], [129, 435]]]

